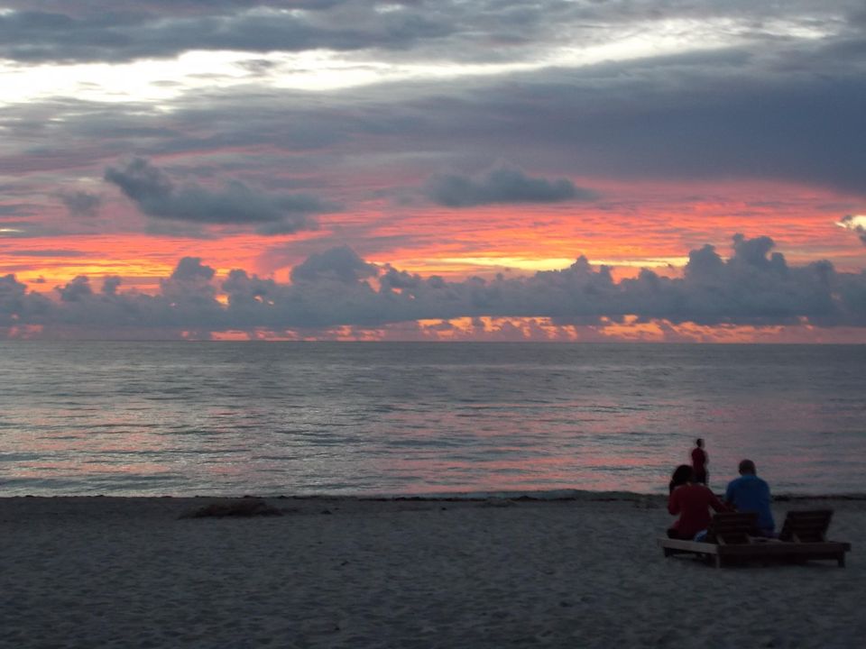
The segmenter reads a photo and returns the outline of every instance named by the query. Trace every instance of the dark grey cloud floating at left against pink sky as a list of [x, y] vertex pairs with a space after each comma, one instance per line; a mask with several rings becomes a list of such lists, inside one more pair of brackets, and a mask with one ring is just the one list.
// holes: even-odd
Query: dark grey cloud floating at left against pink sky
[[334, 211], [317, 197], [265, 194], [239, 181], [220, 190], [198, 185], [176, 187], [168, 175], [148, 160], [135, 158], [123, 168], [108, 167], [105, 178], [120, 187], [149, 216], [198, 224], [257, 224], [264, 233], [311, 230], [311, 214]]

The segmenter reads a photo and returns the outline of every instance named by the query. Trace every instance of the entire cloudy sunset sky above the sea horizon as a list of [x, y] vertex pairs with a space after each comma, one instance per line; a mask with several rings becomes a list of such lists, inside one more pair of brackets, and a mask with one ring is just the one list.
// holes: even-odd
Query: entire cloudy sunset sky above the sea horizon
[[0, 0], [0, 338], [866, 343], [861, 0]]

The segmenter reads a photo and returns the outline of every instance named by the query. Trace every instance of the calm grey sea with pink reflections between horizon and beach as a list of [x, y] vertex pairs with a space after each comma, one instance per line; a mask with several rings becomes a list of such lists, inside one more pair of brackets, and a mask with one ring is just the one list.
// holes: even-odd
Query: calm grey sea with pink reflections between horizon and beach
[[0, 495], [863, 493], [866, 345], [0, 343]]

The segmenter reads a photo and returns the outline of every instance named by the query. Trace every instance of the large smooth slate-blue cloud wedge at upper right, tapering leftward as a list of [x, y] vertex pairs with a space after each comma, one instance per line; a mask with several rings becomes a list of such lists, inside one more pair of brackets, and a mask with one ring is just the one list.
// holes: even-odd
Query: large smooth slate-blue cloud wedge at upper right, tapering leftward
[[408, 138], [455, 155], [531, 156], [572, 177], [760, 178], [866, 195], [866, 56], [838, 69], [834, 55], [811, 54], [792, 53], [804, 69], [791, 73], [756, 61], [732, 75], [704, 55], [694, 66], [550, 69], [460, 101], [420, 97]]

